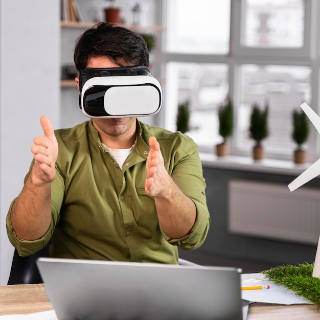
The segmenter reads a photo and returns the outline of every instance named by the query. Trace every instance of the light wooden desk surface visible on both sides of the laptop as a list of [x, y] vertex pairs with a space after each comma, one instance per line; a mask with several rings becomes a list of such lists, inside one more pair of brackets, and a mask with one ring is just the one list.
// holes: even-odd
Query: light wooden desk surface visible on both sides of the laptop
[[[247, 320], [320, 320], [316, 305], [250, 305]], [[0, 315], [52, 310], [43, 284], [0, 286]]]

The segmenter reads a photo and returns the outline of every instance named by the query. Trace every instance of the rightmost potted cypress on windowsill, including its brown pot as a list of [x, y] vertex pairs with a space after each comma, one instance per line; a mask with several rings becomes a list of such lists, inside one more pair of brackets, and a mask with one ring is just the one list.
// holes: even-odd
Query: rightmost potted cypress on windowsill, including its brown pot
[[293, 153], [295, 164], [304, 164], [306, 162], [307, 151], [303, 150], [302, 145], [308, 140], [310, 127], [309, 119], [303, 110], [294, 109], [292, 111], [293, 130], [291, 137], [297, 147]]

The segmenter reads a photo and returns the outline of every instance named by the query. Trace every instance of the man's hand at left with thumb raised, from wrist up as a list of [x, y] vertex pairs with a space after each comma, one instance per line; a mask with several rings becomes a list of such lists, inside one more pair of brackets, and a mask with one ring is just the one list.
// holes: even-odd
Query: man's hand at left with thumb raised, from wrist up
[[35, 159], [32, 180], [39, 184], [52, 182], [55, 179], [55, 163], [58, 156], [58, 142], [50, 120], [42, 116], [40, 123], [44, 135], [34, 138], [34, 145], [31, 147], [31, 152], [34, 153]]

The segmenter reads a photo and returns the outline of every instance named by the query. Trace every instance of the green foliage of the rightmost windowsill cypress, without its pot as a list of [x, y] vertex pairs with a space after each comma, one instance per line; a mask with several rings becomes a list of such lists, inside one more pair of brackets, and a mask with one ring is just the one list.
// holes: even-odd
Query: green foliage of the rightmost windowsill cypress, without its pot
[[292, 111], [293, 130], [291, 137], [298, 145], [298, 150], [302, 150], [302, 145], [308, 140], [310, 133], [309, 119], [303, 110], [294, 109]]

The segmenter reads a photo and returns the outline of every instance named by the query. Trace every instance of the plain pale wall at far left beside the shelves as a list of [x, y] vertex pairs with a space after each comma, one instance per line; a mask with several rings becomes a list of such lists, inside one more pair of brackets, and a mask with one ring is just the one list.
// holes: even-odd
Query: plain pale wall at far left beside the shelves
[[60, 126], [60, 15], [57, 0], [0, 0], [0, 284], [13, 247], [5, 218], [42, 135], [39, 118]]

